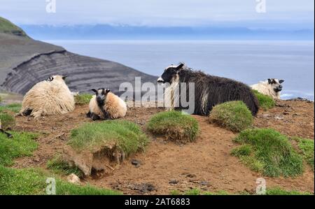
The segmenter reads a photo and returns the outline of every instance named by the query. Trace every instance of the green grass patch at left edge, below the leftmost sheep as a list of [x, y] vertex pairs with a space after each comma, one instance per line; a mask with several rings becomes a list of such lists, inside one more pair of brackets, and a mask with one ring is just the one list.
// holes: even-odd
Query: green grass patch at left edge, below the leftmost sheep
[[37, 143], [34, 139], [37, 134], [19, 133], [10, 131], [14, 138], [7, 138], [5, 134], [0, 134], [0, 164], [10, 166], [13, 159], [17, 157], [29, 156], [36, 150]]

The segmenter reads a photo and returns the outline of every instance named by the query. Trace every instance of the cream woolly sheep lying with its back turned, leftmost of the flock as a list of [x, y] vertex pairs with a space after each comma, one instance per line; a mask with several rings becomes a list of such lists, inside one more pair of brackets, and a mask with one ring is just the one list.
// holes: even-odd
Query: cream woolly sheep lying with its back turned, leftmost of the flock
[[74, 110], [73, 94], [64, 82], [66, 77], [53, 75], [38, 82], [25, 94], [20, 115], [35, 118], [42, 115], [62, 115]]

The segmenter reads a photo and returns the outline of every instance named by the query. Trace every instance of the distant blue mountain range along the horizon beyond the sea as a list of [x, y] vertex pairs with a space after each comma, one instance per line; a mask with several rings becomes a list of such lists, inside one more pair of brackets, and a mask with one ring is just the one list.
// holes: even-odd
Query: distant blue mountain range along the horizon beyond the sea
[[20, 25], [41, 39], [176, 39], [176, 40], [314, 40], [314, 28], [251, 29], [248, 27], [141, 27], [129, 25]]

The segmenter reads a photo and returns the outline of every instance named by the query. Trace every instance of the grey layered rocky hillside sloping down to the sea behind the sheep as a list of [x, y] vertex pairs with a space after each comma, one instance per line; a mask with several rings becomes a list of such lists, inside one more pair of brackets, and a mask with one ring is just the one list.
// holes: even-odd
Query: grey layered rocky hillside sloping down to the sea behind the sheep
[[[102, 59], [76, 55], [64, 48], [34, 41], [24, 31], [0, 19], [0, 85], [9, 92], [25, 94], [36, 82], [50, 75], [67, 75], [73, 92], [88, 92], [92, 88], [106, 87], [118, 92], [122, 82], [155, 82], [155, 76]], [[24, 34], [24, 35], [23, 35]]]

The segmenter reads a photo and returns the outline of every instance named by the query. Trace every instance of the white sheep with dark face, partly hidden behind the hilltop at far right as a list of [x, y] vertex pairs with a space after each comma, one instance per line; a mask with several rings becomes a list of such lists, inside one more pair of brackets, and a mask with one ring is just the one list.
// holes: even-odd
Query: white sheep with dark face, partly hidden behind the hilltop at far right
[[280, 99], [282, 85], [284, 80], [278, 80], [276, 78], [268, 78], [265, 81], [260, 81], [258, 84], [251, 85], [252, 89], [257, 90], [261, 94], [272, 96], [273, 99]]

